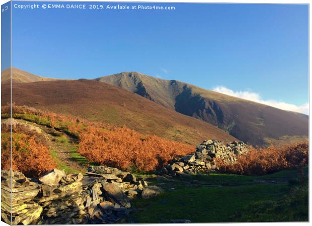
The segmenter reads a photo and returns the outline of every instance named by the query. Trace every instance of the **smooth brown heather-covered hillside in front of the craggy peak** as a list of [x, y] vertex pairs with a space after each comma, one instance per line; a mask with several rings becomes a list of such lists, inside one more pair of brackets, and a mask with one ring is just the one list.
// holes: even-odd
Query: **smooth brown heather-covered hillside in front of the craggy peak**
[[[127, 126], [143, 134], [155, 134], [196, 145], [204, 139], [237, 140], [217, 127], [166, 108], [125, 89], [95, 80], [58, 80], [13, 83], [13, 102]], [[10, 83], [2, 85], [2, 104], [10, 98]]]

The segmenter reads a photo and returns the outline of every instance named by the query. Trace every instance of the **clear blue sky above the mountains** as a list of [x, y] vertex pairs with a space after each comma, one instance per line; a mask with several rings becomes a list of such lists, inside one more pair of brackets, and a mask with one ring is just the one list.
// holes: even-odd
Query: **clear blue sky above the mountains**
[[48, 3], [36, 10], [13, 8], [14, 67], [57, 78], [138, 71], [305, 106], [297, 111], [306, 113], [307, 5], [146, 3], [135, 5], [175, 10], [121, 11], [44, 10], [42, 4]]

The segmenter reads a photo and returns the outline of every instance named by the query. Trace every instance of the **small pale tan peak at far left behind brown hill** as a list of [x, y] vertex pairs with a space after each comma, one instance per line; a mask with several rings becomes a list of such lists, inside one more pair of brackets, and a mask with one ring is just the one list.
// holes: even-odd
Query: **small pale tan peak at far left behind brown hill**
[[[12, 82], [14, 83], [53, 81], [53, 80], [57, 80], [57, 79], [40, 77], [31, 73], [28, 73], [27, 71], [23, 71], [15, 67], [12, 67]], [[11, 81], [11, 68], [7, 68], [6, 70], [1, 72], [1, 83], [4, 84], [10, 81]]]

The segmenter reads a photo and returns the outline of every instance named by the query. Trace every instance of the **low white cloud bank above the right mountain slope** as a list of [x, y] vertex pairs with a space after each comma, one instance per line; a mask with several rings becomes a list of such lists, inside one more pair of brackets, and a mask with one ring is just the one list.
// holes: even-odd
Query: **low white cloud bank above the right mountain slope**
[[309, 103], [305, 103], [301, 106], [297, 106], [291, 103], [285, 103], [282, 101], [275, 101], [275, 100], [264, 100], [261, 98], [259, 93], [252, 92], [251, 90], [247, 91], [233, 91], [231, 89], [226, 88], [225, 86], [219, 85], [213, 88], [213, 91], [220, 92], [229, 96], [235, 96], [242, 99], [251, 100], [254, 102], [266, 104], [269, 106], [273, 106], [282, 110], [290, 110], [295, 112], [300, 112], [303, 114], [309, 114]]

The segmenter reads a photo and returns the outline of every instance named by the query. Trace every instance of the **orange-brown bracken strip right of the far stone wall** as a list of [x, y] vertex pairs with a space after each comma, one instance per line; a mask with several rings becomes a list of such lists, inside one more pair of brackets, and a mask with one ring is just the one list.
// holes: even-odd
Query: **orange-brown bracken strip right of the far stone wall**
[[288, 168], [301, 169], [308, 164], [308, 143], [296, 143], [283, 147], [253, 149], [238, 157], [234, 164], [216, 160], [223, 173], [262, 175]]

